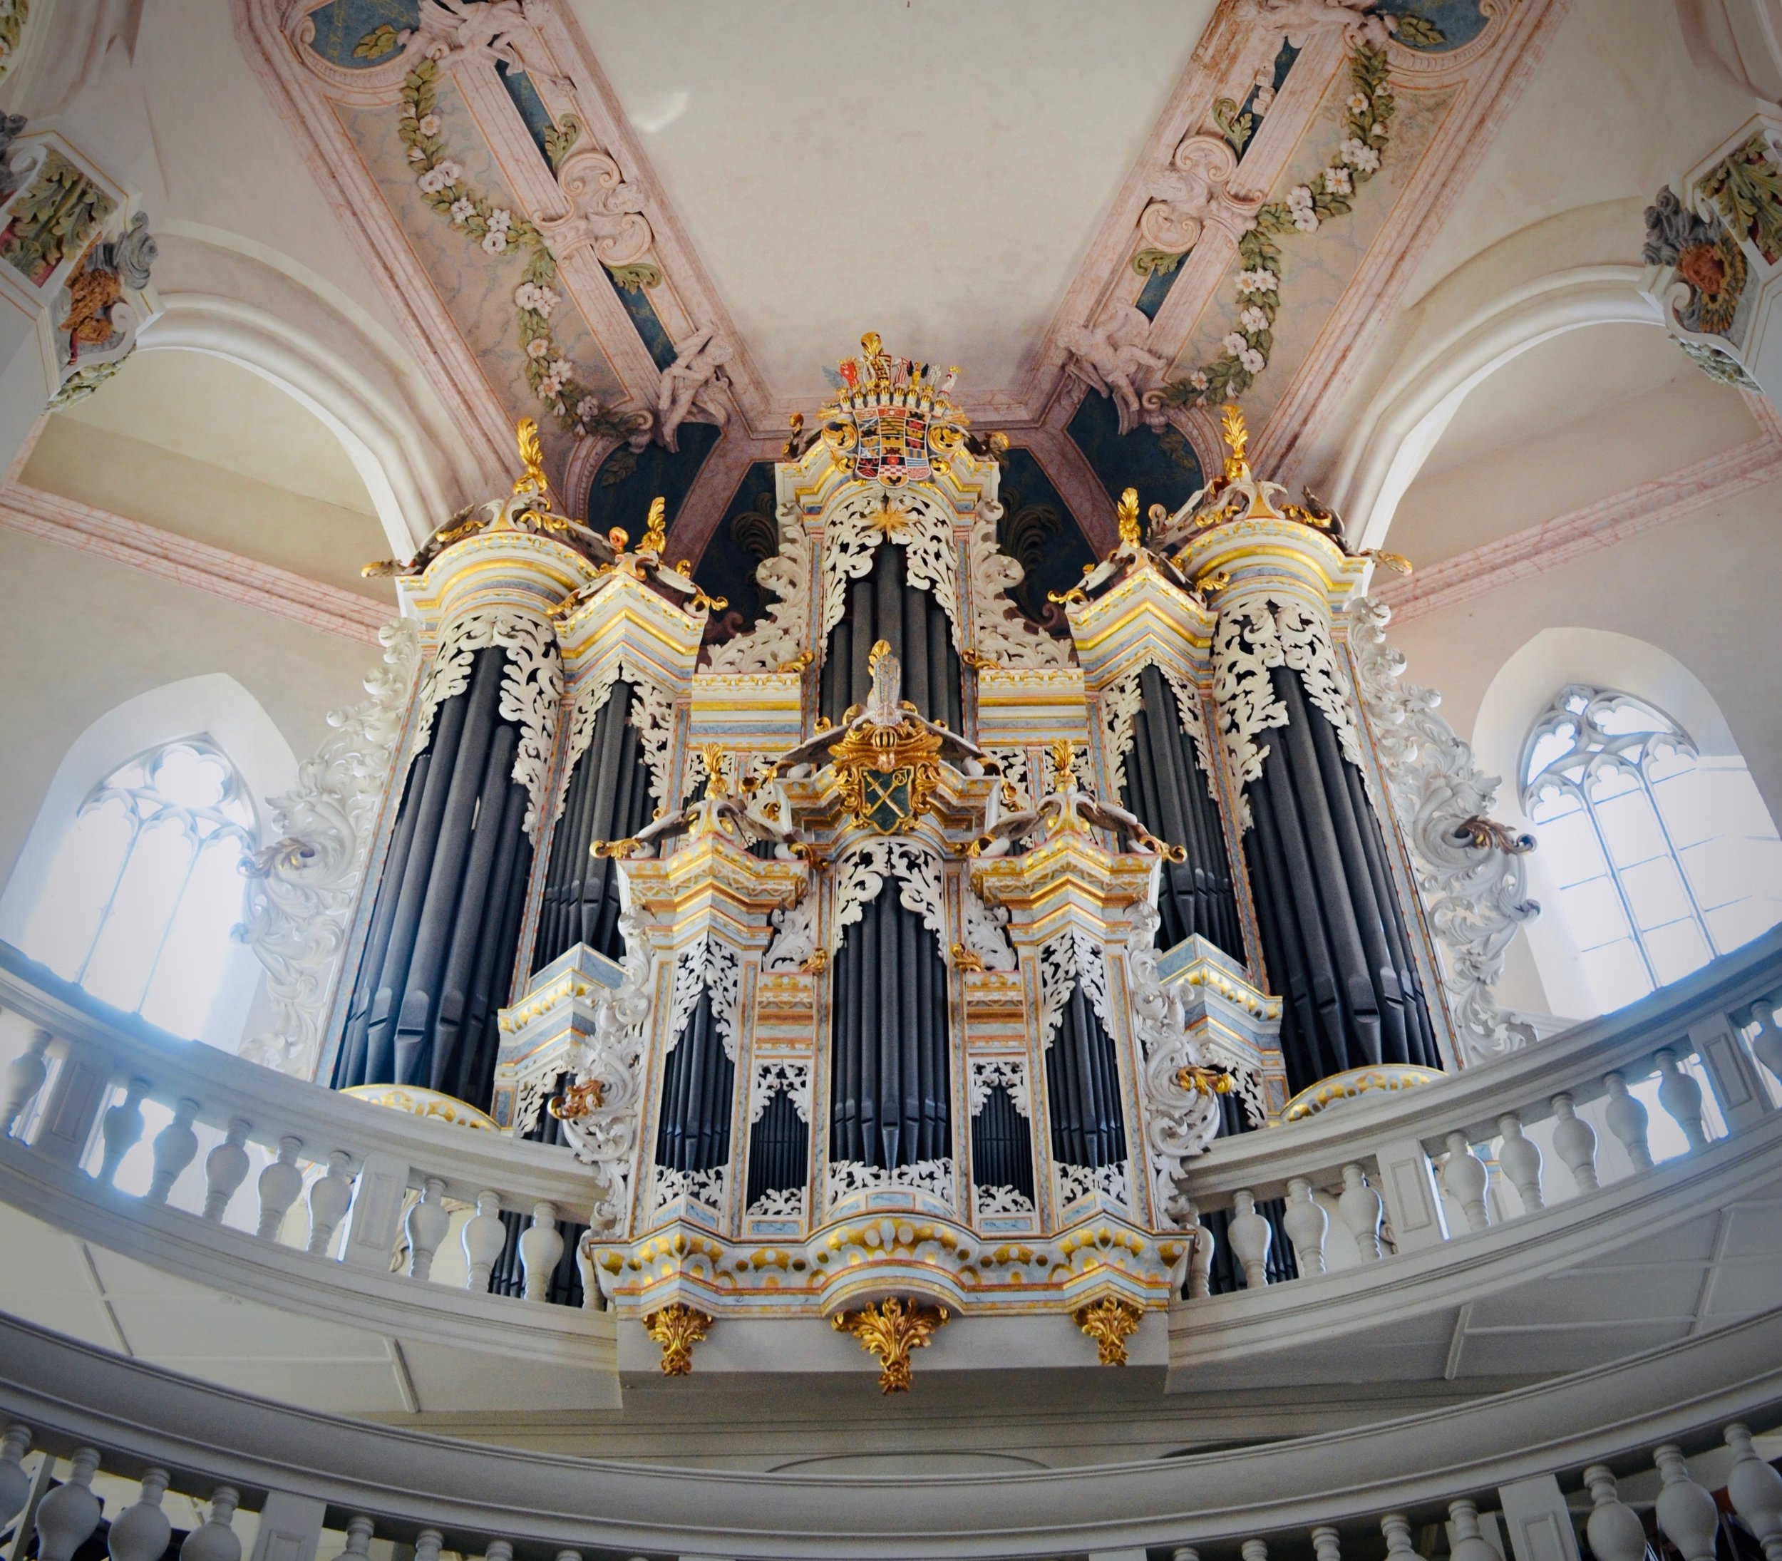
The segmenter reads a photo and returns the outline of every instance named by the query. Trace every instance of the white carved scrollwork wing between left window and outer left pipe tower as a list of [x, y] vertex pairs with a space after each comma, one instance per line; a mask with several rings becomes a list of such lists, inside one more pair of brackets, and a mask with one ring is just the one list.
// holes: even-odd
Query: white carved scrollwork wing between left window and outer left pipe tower
[[269, 798], [280, 839], [255, 857], [233, 928], [266, 966], [273, 1001], [273, 1028], [244, 1041], [241, 1055], [299, 1078], [321, 1057], [330, 978], [421, 663], [410, 620], [387, 624], [378, 638], [383, 665], [365, 674], [371, 697], [331, 713], [333, 732], [298, 770], [296, 788]]

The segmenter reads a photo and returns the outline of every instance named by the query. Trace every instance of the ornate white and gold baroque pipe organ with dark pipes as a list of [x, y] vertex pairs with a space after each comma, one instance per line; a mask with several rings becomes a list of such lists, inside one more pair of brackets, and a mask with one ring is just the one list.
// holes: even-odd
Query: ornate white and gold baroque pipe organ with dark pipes
[[1451, 1051], [1344, 652], [1372, 563], [1228, 408], [1222, 474], [1148, 526], [1128, 490], [1048, 634], [1003, 442], [862, 346], [736, 638], [661, 504], [634, 545], [558, 515], [524, 426], [513, 495], [401, 570], [431, 661], [333, 1082], [565, 1139], [584, 1283], [665, 1369], [775, 1319], [887, 1390], [978, 1317], [1124, 1360], [1208, 1263], [1217, 1133]]

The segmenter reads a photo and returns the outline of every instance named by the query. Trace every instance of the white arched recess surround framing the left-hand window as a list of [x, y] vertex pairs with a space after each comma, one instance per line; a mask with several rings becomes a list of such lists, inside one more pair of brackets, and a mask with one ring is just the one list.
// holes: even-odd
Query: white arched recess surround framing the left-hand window
[[[119, 764], [180, 738], [208, 738], [241, 773], [260, 839], [271, 827], [267, 798], [296, 786], [298, 759], [262, 704], [225, 672], [151, 688], [93, 722], [62, 756], [5, 889], [0, 939], [23, 946], [57, 852], [93, 788]], [[262, 968], [253, 950], [230, 944], [210, 1021], [198, 1037], [233, 1051], [246, 1034]]]

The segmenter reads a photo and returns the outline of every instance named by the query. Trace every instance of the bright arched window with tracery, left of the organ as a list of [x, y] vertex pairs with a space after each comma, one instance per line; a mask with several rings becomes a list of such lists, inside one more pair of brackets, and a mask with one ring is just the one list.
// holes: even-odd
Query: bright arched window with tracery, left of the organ
[[25, 952], [175, 1035], [203, 1035], [242, 916], [255, 813], [208, 738], [119, 764], [55, 854]]

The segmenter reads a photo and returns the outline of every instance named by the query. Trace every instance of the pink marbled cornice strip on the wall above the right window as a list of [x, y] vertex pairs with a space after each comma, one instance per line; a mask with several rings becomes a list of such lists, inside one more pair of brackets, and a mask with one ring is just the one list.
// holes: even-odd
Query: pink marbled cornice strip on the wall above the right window
[[1411, 618], [1459, 606], [1500, 586], [1563, 568], [1618, 542], [1661, 531], [1709, 504], [1775, 481], [1782, 478], [1778, 419], [1771, 412], [1768, 417], [1759, 415], [1759, 424], [1764, 428], [1759, 438], [1693, 462], [1668, 478], [1652, 478], [1620, 494], [1609, 494], [1527, 531], [1499, 536], [1470, 552], [1443, 558], [1440, 563], [1418, 568], [1408, 579], [1383, 584], [1377, 595], [1392, 608], [1395, 624], [1408, 624]]

